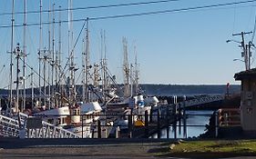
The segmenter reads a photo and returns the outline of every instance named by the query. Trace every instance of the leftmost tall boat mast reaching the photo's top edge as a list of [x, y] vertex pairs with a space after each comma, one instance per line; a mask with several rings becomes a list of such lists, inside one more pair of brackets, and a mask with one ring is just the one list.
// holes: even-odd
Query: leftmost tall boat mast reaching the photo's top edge
[[12, 103], [13, 103], [13, 54], [14, 54], [14, 51], [13, 51], [13, 47], [14, 47], [14, 32], [15, 32], [15, 29], [14, 29], [14, 23], [15, 23], [15, 17], [14, 17], [14, 14], [15, 13], [15, 0], [13, 0], [13, 4], [12, 4], [12, 19], [11, 19], [11, 22], [12, 22], [12, 33], [11, 33], [11, 63], [10, 63], [10, 96], [9, 96], [9, 108], [12, 107]]

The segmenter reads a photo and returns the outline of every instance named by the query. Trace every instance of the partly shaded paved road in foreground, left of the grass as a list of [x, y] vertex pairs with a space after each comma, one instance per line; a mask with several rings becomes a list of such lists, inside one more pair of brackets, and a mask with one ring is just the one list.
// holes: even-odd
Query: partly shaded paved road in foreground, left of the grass
[[164, 140], [141, 139], [0, 139], [0, 158], [157, 158]]

